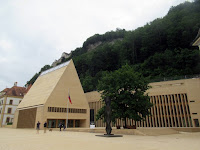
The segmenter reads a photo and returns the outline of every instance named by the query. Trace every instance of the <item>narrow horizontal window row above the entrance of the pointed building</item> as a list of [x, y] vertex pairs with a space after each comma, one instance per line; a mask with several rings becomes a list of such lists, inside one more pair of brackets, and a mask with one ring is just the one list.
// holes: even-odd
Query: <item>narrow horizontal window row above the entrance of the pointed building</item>
[[[48, 112], [62, 112], [66, 113], [67, 108], [60, 108], [60, 107], [48, 107]], [[86, 109], [76, 109], [76, 108], [68, 108], [68, 113], [86, 113]]]

